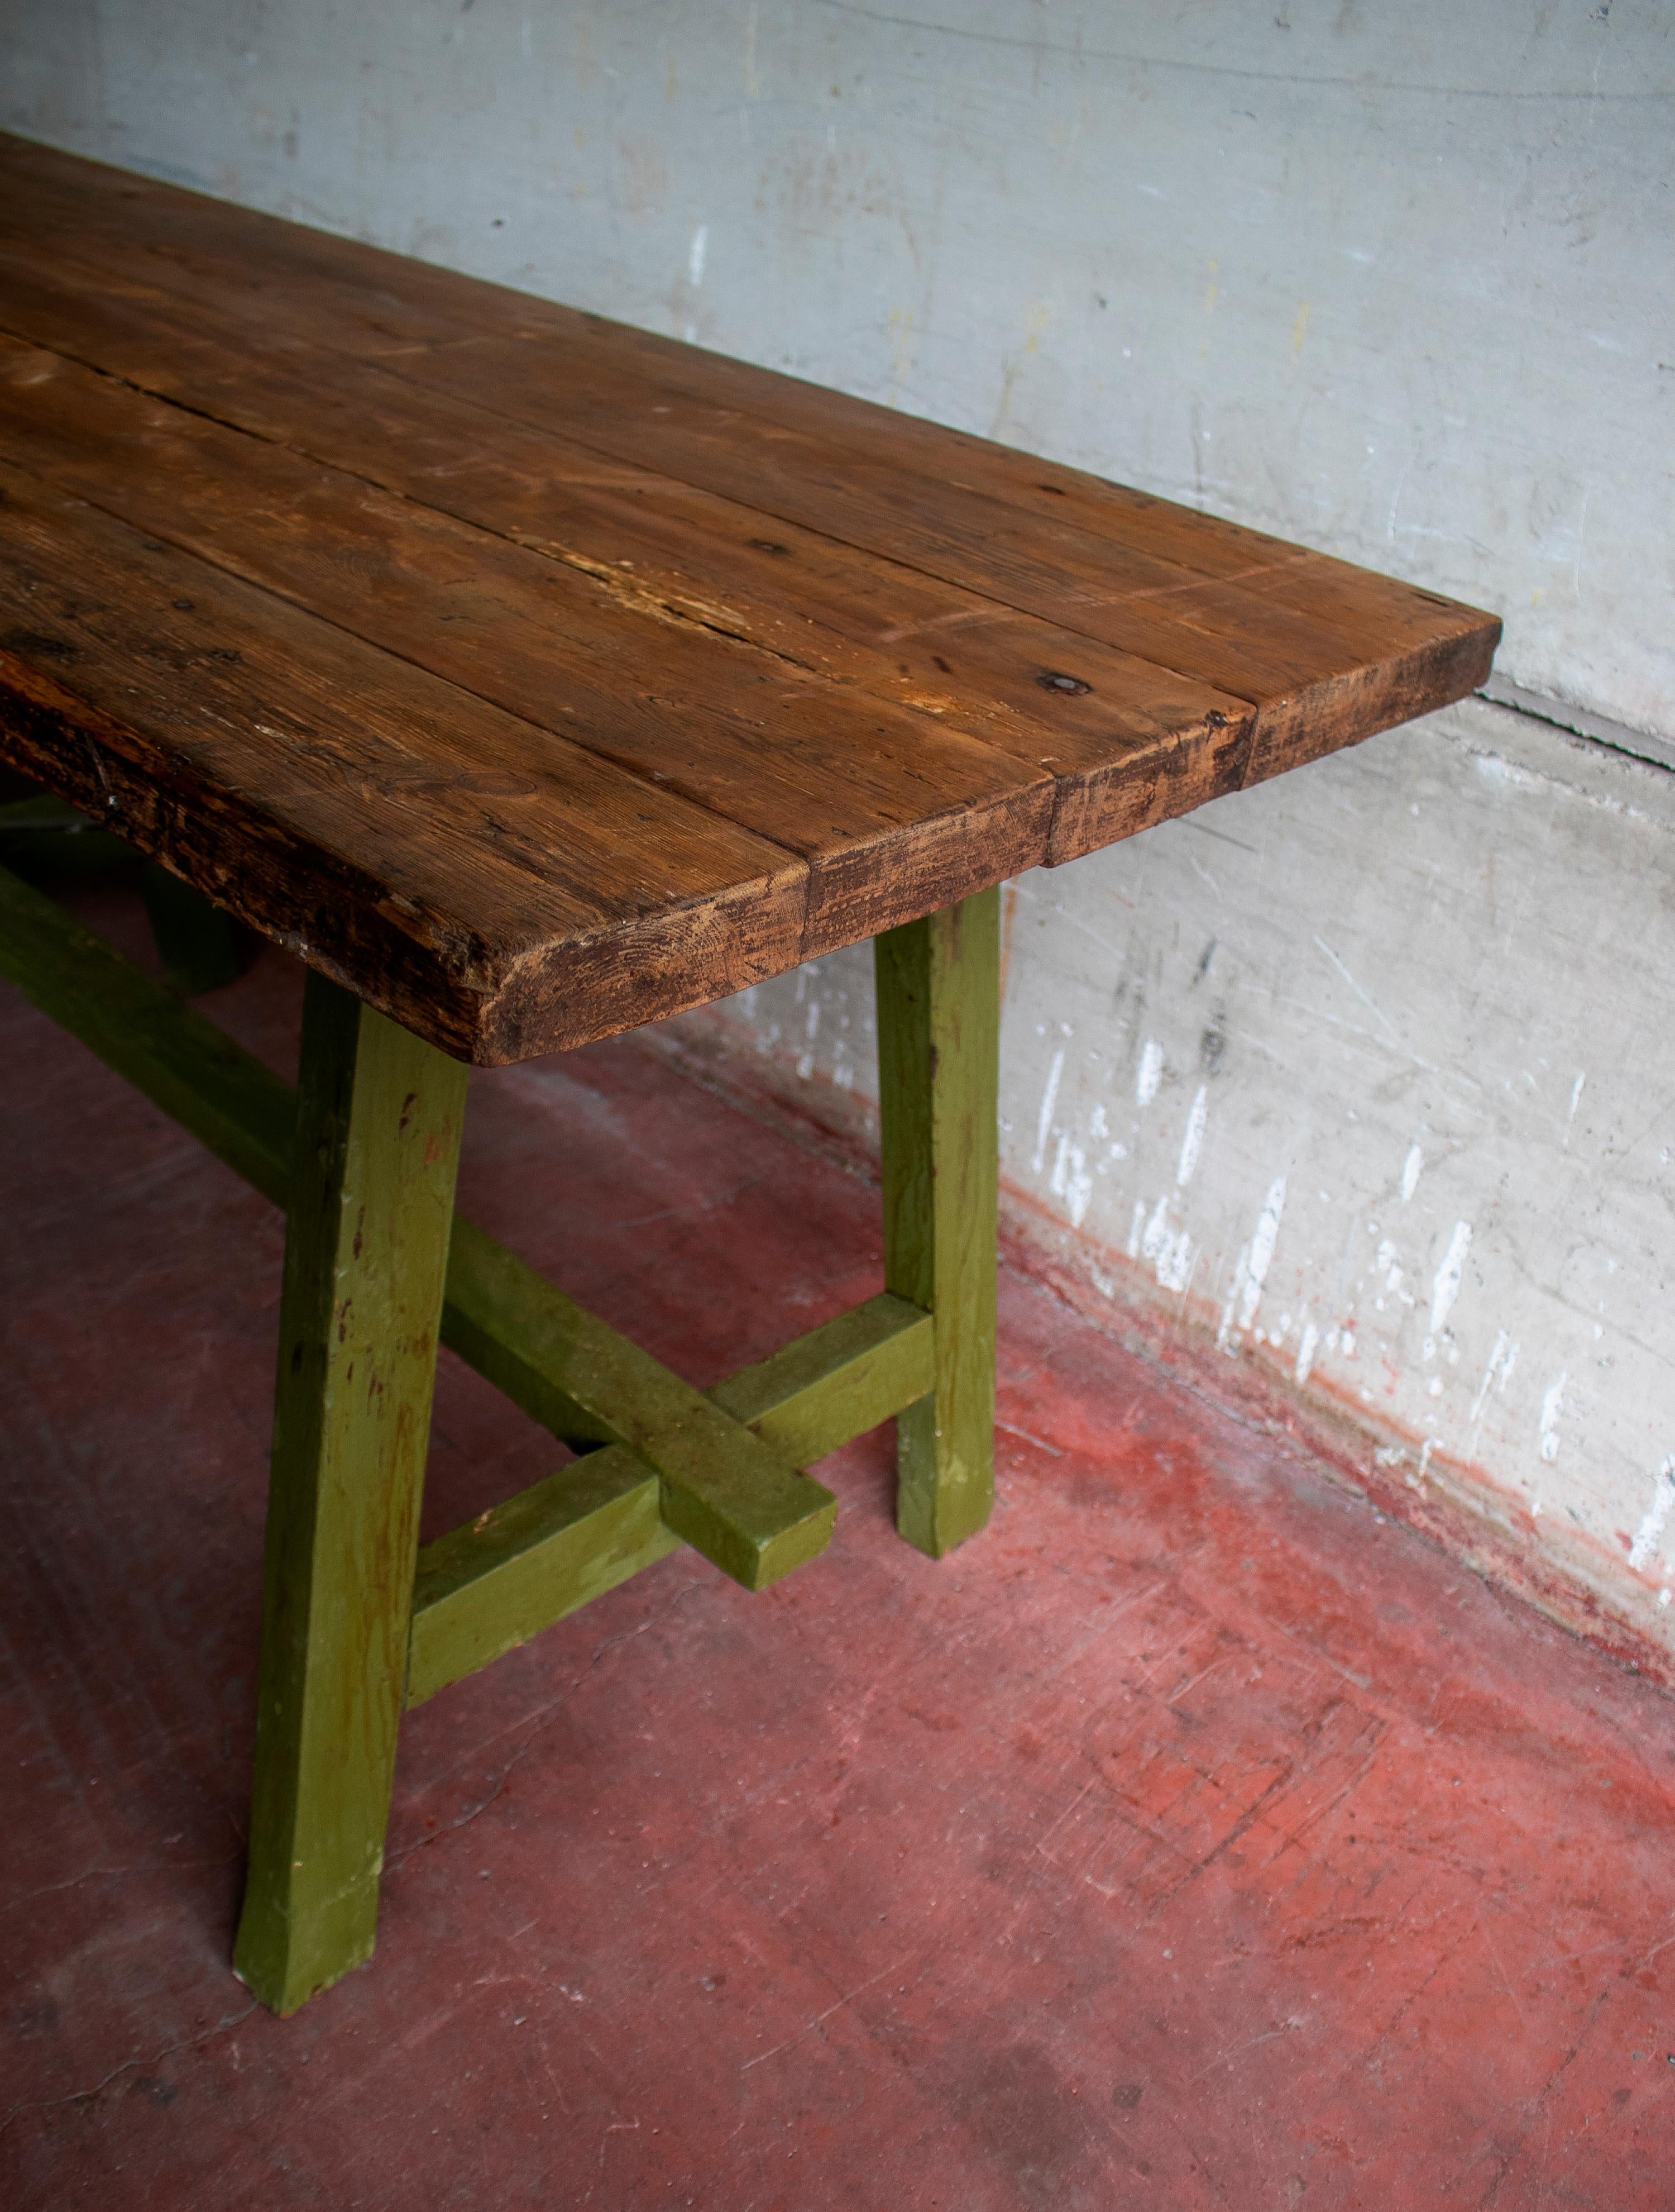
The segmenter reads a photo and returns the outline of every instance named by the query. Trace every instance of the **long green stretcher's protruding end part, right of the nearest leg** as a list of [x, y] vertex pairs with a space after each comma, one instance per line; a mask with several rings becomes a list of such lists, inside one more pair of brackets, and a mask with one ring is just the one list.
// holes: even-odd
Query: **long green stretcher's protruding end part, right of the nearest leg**
[[[826, 1548], [838, 1500], [515, 1252], [455, 1221], [444, 1334], [517, 1405], [552, 1394], [663, 1478], [663, 1520], [747, 1590]], [[528, 1398], [526, 1398], [528, 1391]], [[541, 1418], [537, 1413], [537, 1418]]]

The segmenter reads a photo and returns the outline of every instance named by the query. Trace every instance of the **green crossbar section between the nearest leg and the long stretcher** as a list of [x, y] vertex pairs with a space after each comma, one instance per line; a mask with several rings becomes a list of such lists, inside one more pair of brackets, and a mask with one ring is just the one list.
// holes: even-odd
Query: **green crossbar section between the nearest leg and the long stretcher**
[[422, 1705], [678, 1548], [659, 1513], [656, 1469], [625, 1444], [561, 1467], [418, 1555], [407, 1703]]

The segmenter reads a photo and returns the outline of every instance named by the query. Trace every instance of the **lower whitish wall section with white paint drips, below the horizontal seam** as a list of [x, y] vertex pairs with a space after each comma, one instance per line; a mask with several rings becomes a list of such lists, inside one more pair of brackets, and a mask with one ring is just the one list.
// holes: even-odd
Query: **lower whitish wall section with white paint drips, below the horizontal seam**
[[[1469, 701], [1014, 887], [1008, 1214], [1675, 1650], [1671, 1006], [1675, 776]], [[857, 1128], [871, 1011], [670, 1026]]]

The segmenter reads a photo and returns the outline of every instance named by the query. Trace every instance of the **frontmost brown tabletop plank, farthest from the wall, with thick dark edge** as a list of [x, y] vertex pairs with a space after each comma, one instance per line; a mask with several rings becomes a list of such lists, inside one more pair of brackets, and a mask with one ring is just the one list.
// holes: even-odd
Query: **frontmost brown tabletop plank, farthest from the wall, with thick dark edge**
[[4, 465], [0, 498], [13, 763], [444, 1051], [800, 958], [796, 854]]

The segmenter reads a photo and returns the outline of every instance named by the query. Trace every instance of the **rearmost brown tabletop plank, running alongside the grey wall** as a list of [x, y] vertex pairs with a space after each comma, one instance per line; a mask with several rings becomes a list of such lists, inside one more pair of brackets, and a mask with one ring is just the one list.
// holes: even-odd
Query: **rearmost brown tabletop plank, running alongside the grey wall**
[[[73, 186], [57, 197], [60, 228], [42, 234], [35, 226], [33, 250], [71, 246], [97, 254], [97, 226], [91, 234], [77, 221], [84, 210]], [[155, 290], [214, 301], [292, 343], [318, 341], [329, 330], [336, 349], [382, 358], [422, 383], [451, 389], [464, 380], [473, 392], [493, 385], [497, 405], [522, 383], [524, 411], [544, 409], [550, 420], [559, 407], [568, 431], [599, 451], [667, 465], [663, 449], [674, 447], [681, 456], [674, 473], [689, 482], [731, 489], [742, 473], [751, 502], [787, 522], [807, 522], [813, 498], [826, 526], [849, 515], [846, 535], [855, 544], [871, 542], [886, 520], [897, 557], [919, 560], [935, 575], [963, 566], [966, 580], [986, 591], [999, 571], [1001, 597], [1032, 604], [1014, 586], [1045, 591], [1058, 602], [1045, 611], [1058, 619], [1063, 595], [1087, 599], [1092, 577], [1100, 604], [1092, 613], [1083, 606], [1072, 624], [1092, 619], [1092, 635], [1109, 635], [1118, 617], [1103, 602], [1127, 584], [1120, 619], [1136, 637], [1151, 639], [1145, 650], [1184, 670], [1184, 655], [1226, 668], [1231, 646], [1246, 655], [1240, 666], [1249, 670], [1249, 681], [1229, 686], [1235, 692], [1255, 684], [1262, 699], [1279, 699], [1308, 681], [1310, 644], [1321, 633], [1326, 659], [1315, 661], [1315, 677], [1328, 675], [1346, 646], [1357, 659], [1412, 650], [1434, 664], [1443, 657], [1441, 633], [1489, 626], [1434, 593], [1083, 471], [599, 316], [435, 270], [415, 272], [373, 248], [289, 232], [281, 241], [270, 226], [250, 237], [259, 234], [263, 250], [281, 261], [283, 283], [259, 285], [247, 274], [241, 281], [239, 259], [245, 270], [252, 259], [247, 239], [239, 254], [239, 226], [252, 221], [243, 210], [194, 206], [190, 195], [170, 197], [168, 188], [150, 188], [144, 201], [155, 248], [146, 274]], [[106, 221], [104, 252], [113, 274], [133, 283], [133, 237], [119, 223]], [[1291, 615], [1302, 619], [1293, 624]], [[1288, 657], [1264, 655], [1264, 639], [1288, 644]], [[1335, 710], [1346, 712], [1348, 701], [1339, 699]]]

